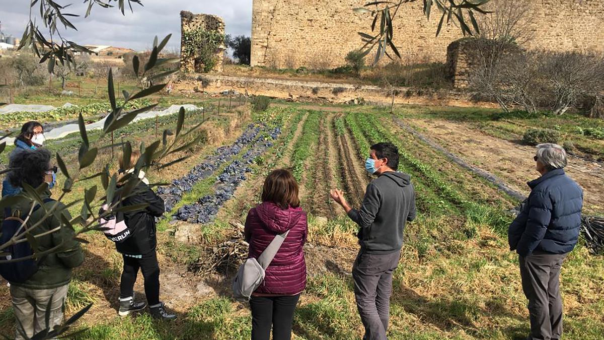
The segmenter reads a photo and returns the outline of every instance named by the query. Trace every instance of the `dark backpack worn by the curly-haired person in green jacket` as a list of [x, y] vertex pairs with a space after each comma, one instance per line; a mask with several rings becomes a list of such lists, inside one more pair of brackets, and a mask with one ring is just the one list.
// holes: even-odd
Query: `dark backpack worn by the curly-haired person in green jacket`
[[[45, 198], [44, 203], [54, 201], [52, 198]], [[40, 204], [34, 206], [33, 211], [40, 209]], [[33, 212], [32, 211], [32, 212]], [[17, 212], [16, 212], [17, 213]], [[18, 213], [17, 213], [18, 214]], [[28, 213], [22, 214], [21, 217], [13, 216], [11, 214], [10, 207], [4, 209], [4, 221], [2, 221], [2, 234], [0, 234], [0, 244], [5, 244], [13, 238], [15, 234], [21, 235], [25, 232], [28, 227], [21, 228], [21, 224], [27, 218]], [[19, 230], [21, 229], [21, 230]], [[2, 250], [0, 254], [0, 260], [15, 260], [18, 258], [30, 257], [34, 255], [33, 249], [29, 242], [21, 242], [12, 244]], [[34, 258], [28, 260], [1, 263], [0, 264], [0, 275], [8, 282], [13, 283], [24, 283], [29, 280], [38, 270], [38, 262]]]

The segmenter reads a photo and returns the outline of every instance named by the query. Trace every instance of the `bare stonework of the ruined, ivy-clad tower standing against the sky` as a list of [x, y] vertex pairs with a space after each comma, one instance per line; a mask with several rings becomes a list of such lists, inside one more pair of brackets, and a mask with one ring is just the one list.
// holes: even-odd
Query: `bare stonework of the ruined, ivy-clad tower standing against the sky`
[[[206, 31], [217, 31], [225, 34], [225, 23], [222, 18], [215, 15], [193, 14], [190, 11], [181, 11], [181, 70], [185, 72], [203, 72], [203, 64], [199, 57], [185, 53], [186, 43], [184, 33], [201, 28]], [[225, 46], [220, 45], [216, 51], [216, 66], [213, 71], [222, 72]]]

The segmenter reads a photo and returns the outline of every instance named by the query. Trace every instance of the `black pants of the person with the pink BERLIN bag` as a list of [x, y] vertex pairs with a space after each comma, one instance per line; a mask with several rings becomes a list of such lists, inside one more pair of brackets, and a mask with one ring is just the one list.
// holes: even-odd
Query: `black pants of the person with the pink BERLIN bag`
[[137, 281], [138, 269], [143, 272], [145, 280], [145, 295], [149, 306], [159, 304], [159, 264], [155, 250], [142, 258], [122, 255], [124, 270], [121, 273], [120, 298], [129, 298], [133, 294], [134, 283]]

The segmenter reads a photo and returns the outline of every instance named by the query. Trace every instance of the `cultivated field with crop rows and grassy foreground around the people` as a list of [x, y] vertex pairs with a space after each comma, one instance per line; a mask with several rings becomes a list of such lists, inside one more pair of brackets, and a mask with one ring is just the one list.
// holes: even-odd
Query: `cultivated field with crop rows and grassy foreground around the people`
[[[602, 121], [572, 115], [500, 117], [492, 110], [467, 108], [406, 106], [394, 114], [384, 111], [279, 103], [264, 113], [250, 113], [242, 105], [205, 117], [199, 132], [204, 143], [190, 158], [148, 172], [153, 183], [169, 184], [158, 189], [171, 208], [158, 225], [158, 256], [161, 298], [178, 313], [178, 320], [156, 322], [147, 313], [117, 316], [121, 256], [102, 235], [89, 234], [86, 260], [75, 271], [67, 303], [70, 315], [94, 302], [80, 322], [88, 330], [79, 339], [249, 339], [249, 309], [230, 298], [238, 255], [245, 255], [236, 225], [259, 201], [265, 175], [280, 167], [291, 168], [300, 181], [302, 206], [309, 213], [308, 286], [294, 318], [294, 338], [359, 339], [362, 324], [350, 275], [358, 250], [356, 226], [330, 203], [328, 192], [344, 189], [350, 203], [358, 206], [371, 180], [364, 171], [368, 148], [382, 141], [399, 147], [399, 170], [412, 177], [419, 212], [406, 229], [394, 275], [389, 338], [526, 336], [527, 301], [517, 256], [508, 250], [506, 236], [518, 200], [410, 131], [527, 194], [524, 182], [537, 174], [533, 148], [519, 142], [522, 133], [527, 126], [558, 125], [565, 139], [577, 146], [568, 173], [585, 189], [586, 212], [602, 214], [604, 145], [571, 129], [602, 126]], [[190, 126], [203, 120], [198, 111], [187, 116]], [[175, 119], [159, 119], [160, 131]], [[154, 128], [155, 122], [143, 121], [127, 126], [116, 139], [150, 141]], [[76, 152], [76, 143], [68, 137], [51, 142], [49, 148]], [[103, 152], [101, 157], [111, 161], [111, 149]], [[77, 183], [71, 199], [96, 181], [100, 183], [98, 178]], [[567, 339], [602, 338], [603, 287], [604, 259], [588, 253], [580, 241], [562, 269]], [[135, 290], [142, 298], [141, 277]], [[0, 294], [0, 329], [8, 334], [14, 321], [4, 285]]]

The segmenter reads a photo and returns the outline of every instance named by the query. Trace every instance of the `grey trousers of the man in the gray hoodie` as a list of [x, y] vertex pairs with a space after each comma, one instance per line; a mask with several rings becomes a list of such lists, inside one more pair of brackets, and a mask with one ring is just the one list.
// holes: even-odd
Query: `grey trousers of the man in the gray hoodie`
[[359, 251], [352, 277], [356, 307], [365, 327], [365, 340], [385, 340], [390, 318], [392, 273], [399, 265], [400, 250], [386, 255]]

